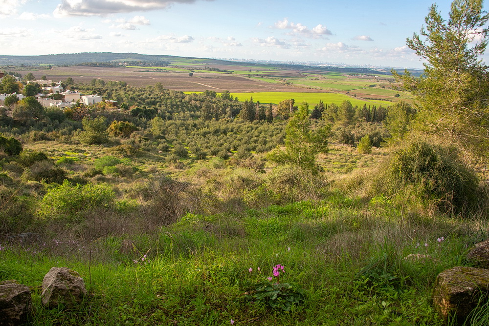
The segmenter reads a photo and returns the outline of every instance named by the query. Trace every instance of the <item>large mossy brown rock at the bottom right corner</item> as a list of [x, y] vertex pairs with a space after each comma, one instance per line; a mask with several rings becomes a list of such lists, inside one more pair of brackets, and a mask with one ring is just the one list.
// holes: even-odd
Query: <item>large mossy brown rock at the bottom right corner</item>
[[481, 296], [487, 293], [489, 270], [453, 267], [438, 274], [433, 290], [433, 305], [445, 321], [452, 315], [462, 324]]

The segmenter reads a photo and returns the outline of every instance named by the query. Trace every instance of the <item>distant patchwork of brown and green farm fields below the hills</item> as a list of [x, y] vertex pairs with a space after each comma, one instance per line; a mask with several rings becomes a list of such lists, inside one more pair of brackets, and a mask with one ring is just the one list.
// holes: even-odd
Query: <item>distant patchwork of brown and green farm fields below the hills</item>
[[[338, 71], [340, 68], [334, 67], [174, 58], [168, 66], [54, 66], [51, 69], [46, 66], [27, 66], [17, 67], [14, 71], [21, 74], [31, 72], [36, 77], [45, 75], [50, 80], [71, 77], [77, 83], [99, 79], [123, 81], [138, 87], [161, 83], [164, 88], [185, 92], [202, 92], [207, 89], [219, 93], [228, 90], [240, 99], [253, 96], [261, 102], [277, 103], [281, 99], [291, 98], [289, 93], [294, 93], [292, 98], [296, 101], [306, 100], [311, 103], [319, 100], [337, 103], [346, 99], [355, 104], [388, 105], [389, 102], [398, 101], [398, 98], [411, 101], [412, 97], [408, 93], [396, 89], [389, 72], [368, 70], [368, 73], [362, 74], [352, 69]], [[189, 76], [189, 73], [193, 76]]]

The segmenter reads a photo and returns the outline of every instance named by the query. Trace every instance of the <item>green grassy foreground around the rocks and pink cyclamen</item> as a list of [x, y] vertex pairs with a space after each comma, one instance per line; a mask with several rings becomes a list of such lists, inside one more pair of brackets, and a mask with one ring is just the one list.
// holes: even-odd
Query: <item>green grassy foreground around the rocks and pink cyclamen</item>
[[[34, 325], [441, 325], [433, 282], [442, 270], [467, 265], [468, 248], [487, 230], [486, 221], [404, 215], [382, 197], [360, 204], [332, 195], [239, 214], [187, 214], [153, 234], [1, 244], [0, 279], [32, 287]], [[289, 311], [252, 299], [277, 264], [285, 266], [280, 282], [305, 295]], [[52, 266], [84, 278], [89, 296], [79, 308], [41, 305]]]

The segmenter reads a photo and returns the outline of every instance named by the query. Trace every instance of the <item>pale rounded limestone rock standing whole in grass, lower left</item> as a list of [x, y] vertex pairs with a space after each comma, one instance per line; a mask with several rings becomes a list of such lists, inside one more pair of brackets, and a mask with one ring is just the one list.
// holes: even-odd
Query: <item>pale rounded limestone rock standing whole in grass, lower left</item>
[[44, 276], [43, 305], [49, 308], [64, 304], [73, 307], [80, 304], [87, 294], [85, 282], [76, 271], [67, 267], [52, 267]]

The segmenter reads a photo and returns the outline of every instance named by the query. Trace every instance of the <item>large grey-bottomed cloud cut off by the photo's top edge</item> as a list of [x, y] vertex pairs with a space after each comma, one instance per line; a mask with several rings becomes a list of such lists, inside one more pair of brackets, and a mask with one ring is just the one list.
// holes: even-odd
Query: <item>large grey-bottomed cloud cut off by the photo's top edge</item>
[[[174, 3], [196, 0], [61, 0], [54, 10], [56, 16], [103, 16], [115, 13], [166, 9]], [[211, 0], [208, 0], [211, 1]]]

